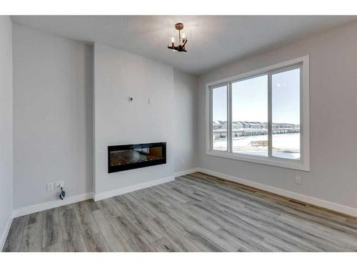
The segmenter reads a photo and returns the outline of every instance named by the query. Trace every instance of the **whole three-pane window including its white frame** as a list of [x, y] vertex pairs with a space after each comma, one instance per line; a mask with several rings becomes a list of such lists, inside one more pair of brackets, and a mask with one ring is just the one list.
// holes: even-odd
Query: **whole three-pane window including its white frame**
[[308, 56], [206, 85], [206, 154], [309, 170]]

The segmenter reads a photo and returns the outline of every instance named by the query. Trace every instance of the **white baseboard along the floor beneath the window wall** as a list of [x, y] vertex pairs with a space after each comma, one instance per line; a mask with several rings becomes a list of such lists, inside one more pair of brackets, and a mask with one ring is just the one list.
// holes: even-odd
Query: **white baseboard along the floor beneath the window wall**
[[283, 197], [288, 197], [291, 199], [296, 199], [299, 201], [303, 201], [306, 202], [308, 204], [313, 204], [316, 206], [321, 206], [325, 209], [331, 209], [333, 211], [338, 211], [340, 213], [343, 214], [348, 214], [351, 216], [355, 216], [357, 217], [357, 209], [353, 208], [351, 206], [343, 206], [341, 204], [337, 204], [334, 202], [330, 202], [330, 201], [326, 201], [323, 199], [317, 199], [316, 197], [310, 197], [310, 196], [306, 196], [305, 194], [298, 194], [296, 192], [292, 192], [292, 191], [288, 191], [286, 189], [280, 189], [278, 187], [271, 187], [269, 185], [266, 184], [261, 184], [258, 182], [252, 182], [246, 179], [242, 179], [242, 178], [238, 178], [238, 177], [233, 177], [231, 175], [228, 174], [223, 174], [221, 172], [213, 172], [210, 169], [202, 169], [202, 168], [197, 168], [197, 172], [203, 172], [205, 174], [209, 174], [212, 176], [216, 176], [222, 179], [226, 179], [232, 182], [237, 182], [239, 184], [245, 184], [248, 185], [249, 187], [255, 187], [257, 189], [261, 189], [267, 192], [271, 192], [274, 194], [280, 194]]

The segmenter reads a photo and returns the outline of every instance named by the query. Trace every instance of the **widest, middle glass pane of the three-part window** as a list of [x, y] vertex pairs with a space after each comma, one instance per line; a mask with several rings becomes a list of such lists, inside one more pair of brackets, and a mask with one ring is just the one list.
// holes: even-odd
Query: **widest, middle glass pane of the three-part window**
[[268, 156], [268, 75], [232, 83], [232, 151]]

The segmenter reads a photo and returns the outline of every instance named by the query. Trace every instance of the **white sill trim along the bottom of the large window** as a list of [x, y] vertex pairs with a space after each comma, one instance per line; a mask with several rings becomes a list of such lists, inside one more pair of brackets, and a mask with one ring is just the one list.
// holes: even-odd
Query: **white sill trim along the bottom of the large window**
[[298, 162], [298, 163], [292, 162], [289, 159], [272, 159], [272, 158], [264, 158], [264, 157], [258, 157], [258, 156], [254, 157], [254, 156], [249, 156], [249, 155], [236, 155], [233, 153], [219, 152], [219, 151], [212, 151], [212, 150], [207, 151], [206, 155], [214, 156], [214, 157], [224, 157], [226, 159], [242, 160], [245, 162], [266, 164], [266, 165], [283, 167], [283, 168], [288, 168], [288, 169], [298, 169], [298, 170], [302, 170], [302, 171], [306, 171], [306, 172], [310, 171], [309, 164], [302, 164], [301, 162]]

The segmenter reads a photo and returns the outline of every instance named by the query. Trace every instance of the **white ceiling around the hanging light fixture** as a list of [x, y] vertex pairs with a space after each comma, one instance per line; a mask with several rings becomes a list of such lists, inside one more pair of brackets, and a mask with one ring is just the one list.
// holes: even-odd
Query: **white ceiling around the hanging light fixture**
[[[357, 16], [11, 16], [77, 41], [99, 42], [201, 74], [356, 20]], [[188, 53], [166, 48], [182, 22]], [[176, 37], [176, 36], [175, 36]]]

